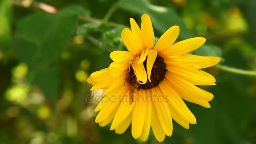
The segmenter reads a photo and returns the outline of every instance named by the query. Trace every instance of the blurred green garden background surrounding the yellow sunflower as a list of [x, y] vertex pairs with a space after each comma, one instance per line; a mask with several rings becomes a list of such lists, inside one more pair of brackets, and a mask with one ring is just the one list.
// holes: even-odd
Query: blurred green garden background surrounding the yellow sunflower
[[[255, 8], [256, 0], [0, 0], [0, 143], [143, 143], [131, 128], [117, 135], [94, 122], [99, 101], [85, 80], [126, 50], [129, 18], [139, 24], [147, 13], [156, 37], [179, 25], [178, 40], [207, 39], [194, 54], [222, 58], [204, 69], [217, 80], [201, 87], [214, 94], [212, 107], [186, 101], [197, 124], [173, 121], [163, 144], [256, 144]], [[158, 142], [150, 132], [144, 143]]]

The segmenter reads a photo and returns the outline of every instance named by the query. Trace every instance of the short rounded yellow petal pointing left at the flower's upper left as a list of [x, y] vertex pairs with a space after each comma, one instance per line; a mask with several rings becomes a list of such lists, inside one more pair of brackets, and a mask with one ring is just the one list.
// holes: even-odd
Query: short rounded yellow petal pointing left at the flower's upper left
[[129, 51], [113, 51], [110, 58], [115, 62], [128, 64], [129, 61], [133, 61], [134, 55]]

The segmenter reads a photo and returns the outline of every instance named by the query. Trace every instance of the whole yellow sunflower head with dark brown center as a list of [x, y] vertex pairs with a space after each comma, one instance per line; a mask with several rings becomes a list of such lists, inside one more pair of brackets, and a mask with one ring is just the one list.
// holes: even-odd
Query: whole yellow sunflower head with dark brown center
[[158, 141], [171, 136], [172, 119], [188, 129], [195, 116], [183, 99], [210, 108], [213, 95], [195, 85], [215, 85], [215, 78], [199, 69], [219, 63], [214, 56], [186, 54], [205, 43], [194, 37], [175, 43], [179, 26], [169, 28], [154, 44], [152, 22], [141, 16], [141, 28], [130, 19], [131, 30], [123, 29], [122, 39], [128, 51], [113, 51], [108, 68], [93, 72], [87, 82], [91, 91], [107, 88], [96, 107], [96, 123], [124, 133], [131, 124], [134, 139], [146, 141], [150, 127]]

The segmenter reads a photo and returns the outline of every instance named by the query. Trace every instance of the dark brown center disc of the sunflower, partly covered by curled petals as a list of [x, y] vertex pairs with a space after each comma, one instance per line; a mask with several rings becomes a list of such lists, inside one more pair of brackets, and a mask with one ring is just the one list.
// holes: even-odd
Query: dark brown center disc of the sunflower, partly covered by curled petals
[[[147, 72], [147, 58], [146, 60], [143, 62], [144, 68], [146, 69]], [[126, 79], [126, 81], [128, 83], [130, 83], [131, 85], [133, 85], [135, 88], [137, 89], [150, 89], [150, 88], [154, 88], [156, 87], [165, 77], [165, 72], [167, 71], [167, 69], [165, 68], [166, 65], [163, 61], [163, 58], [157, 55], [157, 58], [155, 59], [155, 63], [153, 64], [152, 67], [152, 71], [151, 71], [151, 75], [150, 75], [150, 79], [151, 79], [151, 83], [149, 82], [149, 80], [147, 80], [147, 83], [145, 84], [139, 84], [136, 78], [136, 75], [134, 74], [133, 68], [131, 67], [129, 70], [129, 74], [128, 77]]]

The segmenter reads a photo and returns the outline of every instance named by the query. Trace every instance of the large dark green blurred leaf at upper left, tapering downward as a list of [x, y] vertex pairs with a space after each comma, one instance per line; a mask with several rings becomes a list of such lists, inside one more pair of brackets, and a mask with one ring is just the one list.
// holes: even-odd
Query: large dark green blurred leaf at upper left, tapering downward
[[[35, 44], [37, 49], [32, 55], [26, 54], [32, 61], [30, 67], [43, 69], [55, 60], [61, 48], [68, 43], [77, 22], [77, 14], [69, 11], [55, 14], [36, 13], [21, 19], [17, 26], [18, 37]], [[30, 50], [23, 48], [23, 51], [26, 53]]]

